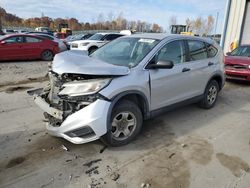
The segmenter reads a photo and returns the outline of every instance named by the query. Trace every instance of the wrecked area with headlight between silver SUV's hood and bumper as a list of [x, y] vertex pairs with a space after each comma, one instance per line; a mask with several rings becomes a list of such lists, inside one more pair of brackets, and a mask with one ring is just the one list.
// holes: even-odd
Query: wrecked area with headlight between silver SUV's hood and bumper
[[69, 115], [95, 102], [104, 99], [98, 91], [108, 85], [108, 76], [49, 73], [50, 83], [40, 95], [55, 111], [46, 113], [45, 118], [53, 126], [60, 126]]

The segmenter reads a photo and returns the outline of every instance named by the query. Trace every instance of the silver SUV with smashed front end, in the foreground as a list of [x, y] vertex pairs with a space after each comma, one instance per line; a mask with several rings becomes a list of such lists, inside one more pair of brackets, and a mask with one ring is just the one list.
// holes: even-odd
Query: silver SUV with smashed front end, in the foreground
[[116, 39], [91, 55], [55, 56], [50, 84], [36, 91], [52, 135], [82, 144], [129, 143], [143, 120], [180, 105], [212, 108], [224, 86], [224, 55], [212, 40], [166, 34]]

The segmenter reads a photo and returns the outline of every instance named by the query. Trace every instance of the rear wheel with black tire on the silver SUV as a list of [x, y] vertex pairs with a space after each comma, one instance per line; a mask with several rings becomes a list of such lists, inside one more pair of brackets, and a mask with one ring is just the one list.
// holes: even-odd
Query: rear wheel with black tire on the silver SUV
[[214, 107], [219, 94], [219, 84], [216, 80], [211, 80], [205, 89], [203, 99], [200, 101], [199, 106], [204, 109]]

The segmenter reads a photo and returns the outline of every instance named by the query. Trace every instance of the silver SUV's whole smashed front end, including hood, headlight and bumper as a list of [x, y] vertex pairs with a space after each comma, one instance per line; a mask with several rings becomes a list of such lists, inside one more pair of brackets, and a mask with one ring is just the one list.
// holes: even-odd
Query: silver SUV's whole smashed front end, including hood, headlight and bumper
[[44, 111], [46, 128], [51, 135], [82, 144], [99, 139], [107, 132], [111, 101], [99, 91], [114, 77], [129, 73], [128, 67], [66, 51], [54, 57], [48, 86], [29, 93]]

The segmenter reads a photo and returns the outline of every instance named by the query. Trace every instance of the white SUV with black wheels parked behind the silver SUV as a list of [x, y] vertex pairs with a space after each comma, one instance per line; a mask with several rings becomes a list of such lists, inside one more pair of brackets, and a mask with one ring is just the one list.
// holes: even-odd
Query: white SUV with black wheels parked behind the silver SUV
[[96, 33], [88, 40], [77, 40], [71, 43], [70, 50], [88, 51], [90, 54], [104, 44], [124, 36], [120, 33]]

